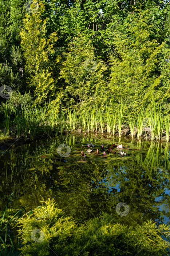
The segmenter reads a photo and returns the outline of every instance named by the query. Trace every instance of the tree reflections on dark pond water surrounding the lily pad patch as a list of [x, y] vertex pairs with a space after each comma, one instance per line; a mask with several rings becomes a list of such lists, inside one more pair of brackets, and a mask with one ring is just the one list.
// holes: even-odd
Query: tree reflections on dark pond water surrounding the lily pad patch
[[[53, 140], [53, 143], [39, 142], [6, 152], [0, 158], [3, 166], [0, 208], [4, 208], [7, 198], [16, 191], [11, 207], [37, 207], [40, 201], [55, 197], [58, 207], [78, 221], [92, 218], [101, 211], [112, 213], [119, 222], [131, 224], [147, 219], [162, 222], [163, 215], [169, 218], [169, 195], [164, 192], [165, 188], [169, 189], [168, 144], [139, 141], [137, 146], [147, 147], [147, 153], [126, 161], [91, 162], [86, 167], [66, 168], [52, 165], [52, 159], [41, 159], [45, 165], [34, 165], [40, 155], [54, 151], [52, 147], [60, 143], [84, 143], [83, 139], [66, 136], [62, 140]], [[36, 170], [28, 170], [30, 167], [36, 167]], [[155, 202], [156, 197], [160, 197], [160, 201]], [[119, 202], [130, 207], [126, 217], [120, 217], [115, 211]], [[160, 205], [164, 206], [163, 212]]]

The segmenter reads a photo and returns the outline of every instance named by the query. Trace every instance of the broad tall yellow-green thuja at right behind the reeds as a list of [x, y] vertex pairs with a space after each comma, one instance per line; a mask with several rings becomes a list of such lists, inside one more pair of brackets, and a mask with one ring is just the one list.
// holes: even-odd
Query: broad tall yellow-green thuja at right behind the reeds
[[[152, 105], [153, 100], [165, 103], [169, 84], [165, 78], [165, 43], [151, 39], [152, 24], [148, 10], [135, 10], [124, 26], [128, 34], [115, 33], [114, 51], [110, 55], [110, 89], [115, 99], [127, 101], [131, 113]], [[165, 70], [161, 72], [161, 68]], [[166, 105], [165, 105], [166, 106]]]

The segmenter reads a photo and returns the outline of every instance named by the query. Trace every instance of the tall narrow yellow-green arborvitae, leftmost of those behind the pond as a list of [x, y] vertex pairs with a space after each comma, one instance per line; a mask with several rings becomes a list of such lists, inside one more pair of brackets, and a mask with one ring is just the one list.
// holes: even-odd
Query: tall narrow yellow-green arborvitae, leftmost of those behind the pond
[[46, 38], [46, 21], [41, 15], [45, 5], [39, 3], [36, 13], [25, 14], [24, 27], [21, 30], [21, 49], [25, 59], [27, 84], [34, 96], [34, 103], [44, 102], [46, 99], [59, 101], [57, 79], [53, 76], [58, 59], [53, 59], [53, 43], [57, 41], [56, 33]]

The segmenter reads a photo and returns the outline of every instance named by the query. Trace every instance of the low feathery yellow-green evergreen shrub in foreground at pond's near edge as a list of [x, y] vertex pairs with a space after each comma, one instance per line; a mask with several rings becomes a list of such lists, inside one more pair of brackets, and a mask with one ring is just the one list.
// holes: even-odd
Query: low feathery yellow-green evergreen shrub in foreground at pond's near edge
[[[169, 248], [169, 242], [162, 239], [169, 236], [169, 226], [157, 227], [148, 221], [142, 226], [128, 227], [115, 223], [112, 215], [106, 213], [78, 226], [74, 219], [56, 207], [54, 200], [35, 209], [31, 216], [25, 215], [19, 223], [19, 234], [23, 239], [21, 255], [25, 256], [37, 252], [38, 255], [60, 256], [162, 256]], [[36, 229], [39, 230], [37, 234]]]

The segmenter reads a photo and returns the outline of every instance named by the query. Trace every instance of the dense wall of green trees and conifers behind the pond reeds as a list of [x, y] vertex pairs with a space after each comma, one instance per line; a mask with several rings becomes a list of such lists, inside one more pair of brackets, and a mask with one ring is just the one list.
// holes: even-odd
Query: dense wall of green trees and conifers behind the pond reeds
[[[58, 108], [72, 103], [79, 109], [82, 102], [88, 108], [92, 102], [104, 105], [111, 96], [115, 104], [121, 97], [129, 101], [126, 108], [132, 112], [149, 106], [153, 99], [167, 108], [169, 1], [37, 3], [39, 8], [32, 13], [26, 10], [25, 1], [0, 1], [1, 65], [9, 62], [13, 45], [21, 52], [21, 61], [17, 60], [15, 67], [9, 64], [13, 75], [19, 76], [15, 87], [11, 83], [12, 89], [21, 93], [31, 90], [35, 103], [50, 99]], [[33, 29], [37, 31], [31, 39]], [[30, 48], [33, 44], [34, 49]], [[98, 64], [93, 72], [83, 70], [88, 59]]]

